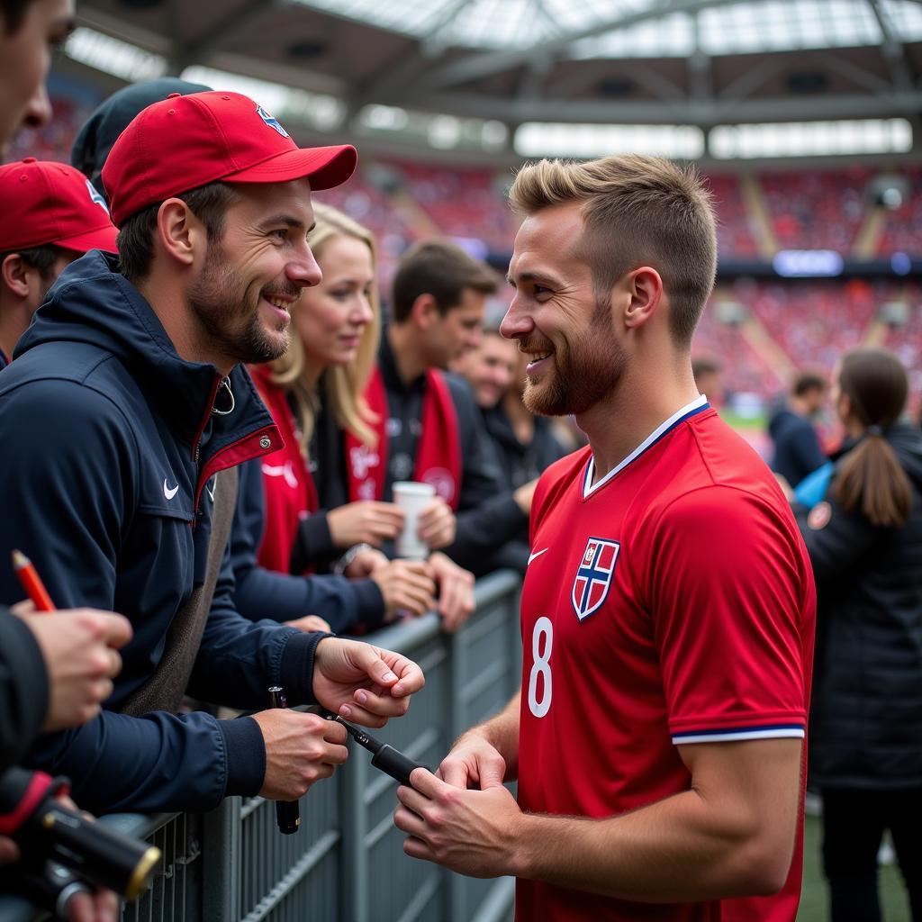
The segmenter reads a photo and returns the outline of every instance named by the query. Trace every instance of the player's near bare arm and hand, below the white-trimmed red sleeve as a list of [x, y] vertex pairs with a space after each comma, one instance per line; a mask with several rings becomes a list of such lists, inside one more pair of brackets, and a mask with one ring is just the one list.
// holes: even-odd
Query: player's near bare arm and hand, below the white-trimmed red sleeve
[[395, 822], [409, 856], [473, 877], [512, 874], [646, 903], [768, 894], [784, 885], [793, 855], [801, 746], [681, 746], [690, 790], [607, 820], [523, 813], [502, 786], [462, 791], [418, 769], [415, 789], [398, 789]]

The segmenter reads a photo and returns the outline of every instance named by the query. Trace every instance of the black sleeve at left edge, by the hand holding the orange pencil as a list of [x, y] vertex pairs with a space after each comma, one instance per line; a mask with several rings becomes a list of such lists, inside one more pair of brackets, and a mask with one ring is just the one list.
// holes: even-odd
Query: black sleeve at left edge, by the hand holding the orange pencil
[[0, 609], [0, 772], [18, 762], [48, 711], [48, 674], [24, 621]]

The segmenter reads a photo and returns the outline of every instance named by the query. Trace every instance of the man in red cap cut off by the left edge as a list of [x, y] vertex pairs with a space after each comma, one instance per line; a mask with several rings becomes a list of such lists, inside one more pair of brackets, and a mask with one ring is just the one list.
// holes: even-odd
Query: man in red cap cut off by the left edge
[[54, 280], [89, 250], [117, 253], [105, 199], [65, 163], [0, 167], [0, 369]]

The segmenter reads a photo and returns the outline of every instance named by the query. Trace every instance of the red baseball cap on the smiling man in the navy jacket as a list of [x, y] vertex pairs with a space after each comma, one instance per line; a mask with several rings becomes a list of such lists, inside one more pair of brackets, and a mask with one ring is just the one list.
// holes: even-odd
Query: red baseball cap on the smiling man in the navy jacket
[[207, 183], [345, 183], [358, 155], [350, 145], [299, 148], [266, 110], [240, 93], [171, 93], [138, 113], [102, 167], [112, 220]]

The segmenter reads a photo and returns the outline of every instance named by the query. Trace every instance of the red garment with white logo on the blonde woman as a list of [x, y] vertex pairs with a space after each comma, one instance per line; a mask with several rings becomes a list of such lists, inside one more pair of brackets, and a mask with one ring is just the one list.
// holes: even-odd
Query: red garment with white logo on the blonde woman
[[291, 551], [301, 519], [317, 511], [317, 490], [304, 464], [299, 426], [291, 412], [287, 392], [272, 382], [266, 365], [250, 366], [250, 373], [285, 440], [281, 448], [261, 458], [265, 527], [256, 560], [266, 570], [289, 573]]

